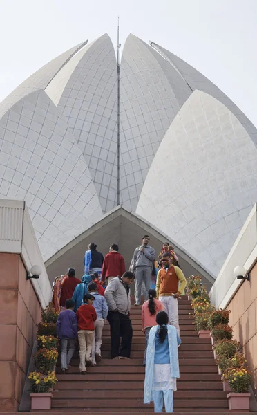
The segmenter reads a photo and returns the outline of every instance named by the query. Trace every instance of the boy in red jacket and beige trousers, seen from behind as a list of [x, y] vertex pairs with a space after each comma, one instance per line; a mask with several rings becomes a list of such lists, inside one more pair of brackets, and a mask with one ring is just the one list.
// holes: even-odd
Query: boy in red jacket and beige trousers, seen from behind
[[[86, 374], [86, 362], [92, 363], [91, 351], [92, 342], [95, 333], [95, 320], [97, 314], [93, 307], [95, 297], [91, 294], [85, 294], [82, 306], [77, 309], [77, 338], [79, 339], [79, 371], [82, 375]], [[86, 362], [85, 362], [86, 360]]]

